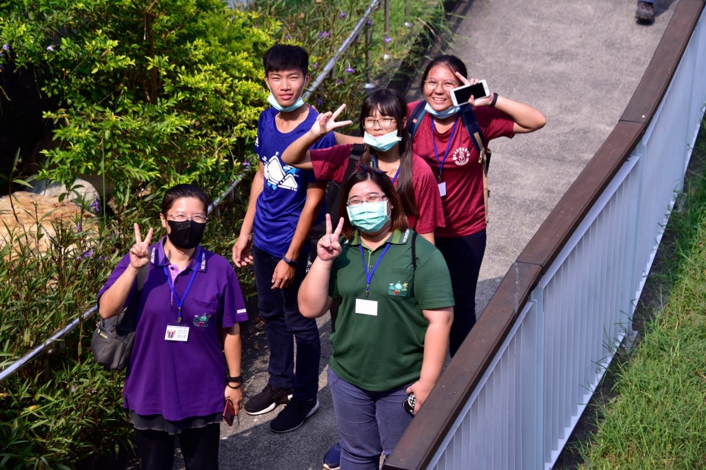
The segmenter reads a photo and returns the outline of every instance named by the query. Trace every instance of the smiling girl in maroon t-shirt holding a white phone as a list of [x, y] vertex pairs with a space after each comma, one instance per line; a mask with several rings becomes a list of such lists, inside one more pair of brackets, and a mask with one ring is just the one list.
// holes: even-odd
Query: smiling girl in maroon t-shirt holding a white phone
[[[483, 168], [462, 119], [462, 109], [451, 100], [450, 91], [477, 83], [466, 78], [466, 66], [456, 56], [438, 56], [421, 78], [426, 113], [417, 123], [412, 150], [429, 164], [438, 183], [445, 226], [435, 233], [436, 246], [451, 272], [455, 316], [451, 328], [453, 356], [476, 321], [476, 284], [486, 246]], [[407, 105], [411, 116], [419, 102]], [[544, 114], [528, 104], [491, 92], [480, 100], [469, 98], [486, 143], [494, 138], [513, 138], [530, 133], [546, 123]]]

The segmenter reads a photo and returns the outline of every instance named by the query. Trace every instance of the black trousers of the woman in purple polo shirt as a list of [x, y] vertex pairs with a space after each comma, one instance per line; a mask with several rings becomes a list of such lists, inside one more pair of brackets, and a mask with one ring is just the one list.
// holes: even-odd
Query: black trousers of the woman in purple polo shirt
[[[135, 430], [143, 470], [172, 470], [176, 435], [160, 430]], [[179, 448], [186, 470], [218, 470], [220, 424], [185, 429], [179, 434]]]

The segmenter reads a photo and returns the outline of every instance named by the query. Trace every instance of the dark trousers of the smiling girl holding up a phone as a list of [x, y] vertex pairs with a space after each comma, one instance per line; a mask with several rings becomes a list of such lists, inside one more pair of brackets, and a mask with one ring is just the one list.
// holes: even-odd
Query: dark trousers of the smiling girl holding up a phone
[[453, 357], [476, 323], [476, 285], [485, 254], [485, 229], [455, 239], [436, 238], [451, 275], [453, 289], [453, 324], [449, 335], [449, 352]]

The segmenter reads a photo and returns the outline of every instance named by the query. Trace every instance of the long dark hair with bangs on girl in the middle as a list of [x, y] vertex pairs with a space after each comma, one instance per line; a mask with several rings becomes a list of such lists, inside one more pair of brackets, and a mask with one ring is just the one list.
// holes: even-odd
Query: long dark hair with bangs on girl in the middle
[[[402, 210], [408, 216], [419, 215], [417, 203], [414, 200], [414, 180], [412, 178], [412, 143], [405, 128], [407, 118], [407, 100], [399, 92], [389, 88], [375, 90], [363, 100], [360, 110], [359, 124], [361, 134], [365, 132], [363, 121], [377, 111], [380, 116], [393, 116], [397, 121], [397, 135], [400, 141], [400, 176], [397, 176], [397, 194], [402, 201]], [[373, 150], [374, 151], [374, 150]], [[366, 145], [360, 162], [372, 166], [371, 148]]]

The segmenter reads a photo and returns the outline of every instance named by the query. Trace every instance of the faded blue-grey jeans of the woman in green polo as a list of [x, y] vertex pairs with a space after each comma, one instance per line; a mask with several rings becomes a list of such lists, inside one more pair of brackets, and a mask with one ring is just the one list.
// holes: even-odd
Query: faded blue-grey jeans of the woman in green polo
[[341, 470], [378, 470], [380, 455], [393, 452], [412, 422], [402, 407], [409, 385], [371, 392], [343, 380], [329, 367], [328, 386], [342, 448]]

